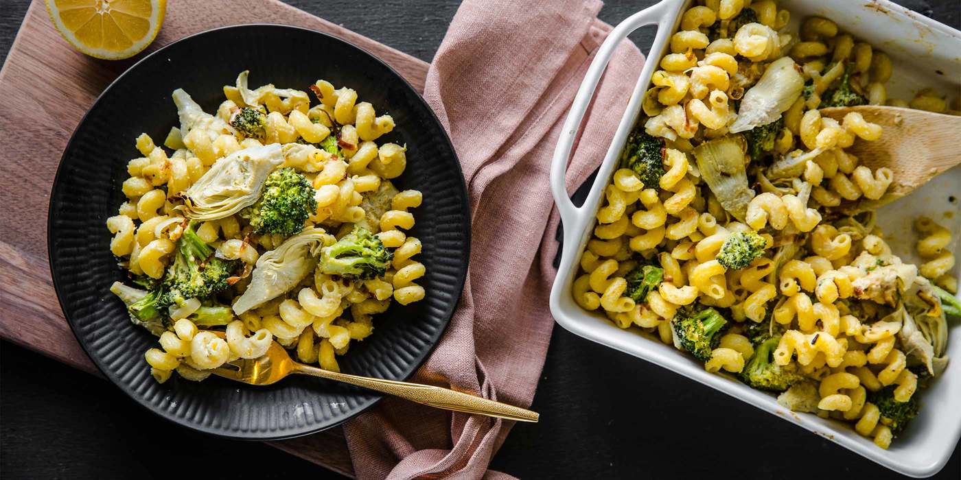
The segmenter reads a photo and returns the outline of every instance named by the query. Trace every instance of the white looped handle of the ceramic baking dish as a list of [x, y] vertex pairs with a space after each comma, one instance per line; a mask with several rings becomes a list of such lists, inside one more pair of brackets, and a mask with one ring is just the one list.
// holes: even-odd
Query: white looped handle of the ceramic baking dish
[[[604, 44], [601, 45], [597, 56], [587, 69], [587, 74], [580, 84], [578, 94], [574, 97], [571, 111], [567, 114], [567, 120], [564, 121], [564, 129], [560, 132], [560, 138], [557, 140], [557, 147], [554, 149], [554, 159], [551, 164], [551, 192], [554, 194], [554, 204], [557, 204], [560, 220], [563, 222], [565, 230], [576, 231], [579, 227], [576, 227], [575, 224], [579, 224], [584, 215], [593, 213], [585, 213], [583, 207], [577, 207], [571, 202], [567, 194], [564, 177], [567, 173], [567, 162], [570, 160], [571, 150], [574, 148], [574, 139], [577, 137], [580, 122], [584, 118], [587, 106], [590, 105], [591, 99], [594, 97], [594, 90], [601, 81], [601, 75], [604, 74], [604, 69], [607, 68], [607, 63], [610, 62], [621, 40], [645, 25], [657, 24], [673, 3], [675, 3], [675, 0], [664, 0], [641, 12], [630, 15], [618, 24], [604, 39]], [[606, 180], [599, 177], [595, 182]], [[567, 245], [567, 242], [564, 245]]]

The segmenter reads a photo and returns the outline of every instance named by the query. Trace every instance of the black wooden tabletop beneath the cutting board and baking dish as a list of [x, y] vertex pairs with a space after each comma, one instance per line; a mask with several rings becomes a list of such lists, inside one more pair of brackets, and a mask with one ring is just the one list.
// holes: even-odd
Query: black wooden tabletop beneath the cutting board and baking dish
[[[176, 1], [176, 0], [174, 0]], [[284, 0], [431, 60], [457, 0]], [[377, 3], [376, 8], [372, 6]], [[650, 0], [609, 0], [617, 23]], [[958, 0], [900, 0], [958, 28]], [[0, 0], [0, 61], [29, 0]], [[646, 50], [653, 30], [634, 36]], [[3, 119], [0, 119], [3, 122]], [[3, 228], [3, 226], [0, 226]], [[532, 407], [491, 468], [524, 478], [899, 478], [752, 406], [554, 328]], [[298, 478], [333, 473], [257, 443], [209, 438], [154, 417], [106, 381], [0, 342], [4, 478]], [[961, 475], [955, 448], [938, 478]]]

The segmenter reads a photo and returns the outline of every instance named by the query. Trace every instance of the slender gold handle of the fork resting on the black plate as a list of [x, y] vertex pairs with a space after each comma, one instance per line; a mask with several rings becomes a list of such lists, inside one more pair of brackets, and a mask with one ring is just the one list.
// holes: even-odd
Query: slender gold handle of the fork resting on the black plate
[[531, 412], [530, 410], [507, 405], [499, 401], [464, 394], [442, 387], [434, 387], [432, 385], [331, 372], [304, 364], [296, 364], [294, 372], [349, 383], [351, 385], [357, 385], [357, 387], [375, 390], [382, 394], [400, 396], [410, 401], [430, 405], [431, 407], [443, 408], [445, 410], [453, 410], [455, 412], [518, 421], [537, 421], [539, 417], [537, 412]]

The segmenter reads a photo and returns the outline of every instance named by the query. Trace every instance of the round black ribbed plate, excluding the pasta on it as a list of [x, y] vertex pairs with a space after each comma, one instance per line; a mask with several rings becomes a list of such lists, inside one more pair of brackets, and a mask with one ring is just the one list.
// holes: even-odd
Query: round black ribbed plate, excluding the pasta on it
[[[105, 227], [124, 201], [127, 161], [139, 156], [136, 135], [161, 142], [177, 125], [171, 92], [184, 88], [208, 112], [223, 85], [249, 69], [252, 85], [306, 90], [317, 79], [355, 88], [397, 124], [382, 141], [407, 144], [399, 188], [416, 188], [424, 203], [411, 234], [424, 251], [427, 298], [394, 304], [375, 318], [374, 334], [338, 357], [343, 372], [409, 377], [450, 322], [467, 274], [470, 213], [460, 164], [431, 108], [381, 60], [356, 46], [306, 29], [244, 25], [171, 43], [140, 60], [93, 104], [67, 144], [50, 198], [48, 248], [63, 314], [93, 363], [127, 395], [161, 417], [222, 437], [276, 440], [316, 432], [357, 415], [381, 398], [308, 376], [253, 387], [211, 376], [199, 383], [173, 375], [160, 385], [143, 359], [156, 337], [131, 324], [110, 293], [123, 272]], [[379, 140], [379, 141], [381, 141]]]

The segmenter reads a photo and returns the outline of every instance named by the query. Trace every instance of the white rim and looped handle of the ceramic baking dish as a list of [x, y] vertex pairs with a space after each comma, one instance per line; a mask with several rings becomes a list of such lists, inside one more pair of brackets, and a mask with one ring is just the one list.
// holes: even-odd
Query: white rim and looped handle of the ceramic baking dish
[[[900, 473], [913, 477], [927, 477], [937, 473], [948, 462], [950, 455], [961, 437], [961, 413], [955, 412], [953, 418], [941, 419], [937, 422], [936, 432], [925, 432], [938, 438], [938, 451], [928, 451], [922, 454], [918, 451], [922, 445], [898, 444], [893, 445], [891, 450], [882, 450], [875, 446], [870, 439], [865, 439], [853, 433], [848, 425], [841, 424], [832, 420], [820, 419], [810, 414], [795, 414], [776, 403], [774, 396], [755, 391], [750, 387], [732, 381], [722, 375], [704, 372], [700, 364], [695, 363], [687, 356], [678, 352], [674, 348], [664, 346], [651, 338], [643, 337], [628, 330], [621, 330], [605, 319], [589, 314], [573, 301], [570, 295], [571, 284], [577, 274], [580, 252], [583, 252], [589, 233], [594, 224], [594, 215], [601, 202], [604, 186], [610, 179], [616, 158], [620, 156], [628, 132], [631, 130], [641, 107], [644, 92], [651, 82], [653, 71], [657, 68], [659, 59], [658, 53], [663, 52], [668, 38], [675, 32], [679, 22], [679, 15], [690, 0], [663, 0], [652, 7], [637, 12], [623, 22], [621, 22], [604, 41], [601, 49], [591, 64], [585, 78], [580, 85], [571, 112], [564, 124], [556, 149], [554, 151], [554, 161], [551, 171], [551, 187], [554, 194], [554, 203], [560, 212], [563, 222], [564, 244], [560, 266], [557, 276], [554, 279], [554, 287], [551, 292], [551, 312], [558, 324], [581, 337], [600, 343], [607, 347], [616, 348], [628, 354], [643, 358], [656, 365], [664, 367], [674, 372], [678, 372], [704, 385], [726, 393], [729, 396], [740, 398], [751, 403], [757, 408], [774, 414], [784, 420], [789, 420], [801, 427], [825, 437], [826, 439], [840, 444], [851, 451], [854, 451], [865, 458], [868, 458], [879, 465], [899, 471]], [[822, 2], [808, 2], [818, 4]], [[825, 0], [824, 3], [829, 3]], [[854, 2], [852, 2], [854, 3]], [[904, 9], [899, 5], [887, 0], [861, 1], [860, 7], [875, 9], [889, 15], [899, 15], [899, 20], [907, 19], [917, 28], [926, 27], [939, 34], [947, 35], [961, 42], [961, 32], [931, 20], [924, 15]], [[634, 87], [633, 94], [628, 103], [624, 117], [611, 146], [604, 157], [597, 175], [597, 180], [591, 187], [587, 200], [581, 207], [576, 207], [571, 203], [565, 185], [565, 172], [568, 159], [574, 146], [577, 132], [583, 115], [591, 101], [594, 89], [599, 83], [604, 73], [607, 62], [610, 60], [617, 44], [628, 36], [631, 32], [646, 25], [656, 25], [657, 34], [653, 41], [651, 52], [645, 62], [640, 78]], [[840, 22], [844, 28], [844, 22]], [[918, 28], [919, 36], [924, 37], [924, 32]], [[948, 45], [944, 45], [949, 48]], [[940, 72], [939, 72], [940, 73]], [[955, 169], [958, 170], [958, 169]], [[952, 177], [959, 177], [959, 172], [953, 172]], [[961, 177], [959, 177], [961, 178]], [[955, 329], [959, 328], [955, 326]], [[640, 340], [640, 341], [638, 341]], [[959, 350], [961, 351], [961, 350]], [[956, 355], [957, 356], [957, 355]], [[961, 361], [958, 358], [955, 361]], [[956, 369], [954, 369], [956, 370]], [[961, 403], [961, 390], [954, 388], [950, 397], [957, 398], [955, 404]], [[942, 410], [949, 408], [942, 407]], [[958, 409], [954, 409], [955, 411]], [[925, 425], [930, 426], [930, 425]]]

